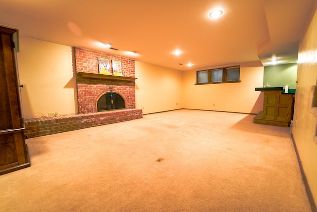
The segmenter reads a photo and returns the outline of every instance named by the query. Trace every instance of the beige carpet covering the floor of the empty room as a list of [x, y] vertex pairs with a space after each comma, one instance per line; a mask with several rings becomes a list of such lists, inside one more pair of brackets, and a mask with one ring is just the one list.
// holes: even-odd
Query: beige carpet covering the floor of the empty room
[[290, 128], [253, 117], [182, 109], [27, 139], [0, 211], [310, 212]]

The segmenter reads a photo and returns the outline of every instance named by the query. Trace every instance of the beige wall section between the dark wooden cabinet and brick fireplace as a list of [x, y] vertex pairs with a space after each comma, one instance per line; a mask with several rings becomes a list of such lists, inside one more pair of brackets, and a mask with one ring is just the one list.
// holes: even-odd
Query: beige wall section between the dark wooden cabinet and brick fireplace
[[71, 47], [20, 37], [17, 53], [25, 119], [75, 114], [76, 81]]

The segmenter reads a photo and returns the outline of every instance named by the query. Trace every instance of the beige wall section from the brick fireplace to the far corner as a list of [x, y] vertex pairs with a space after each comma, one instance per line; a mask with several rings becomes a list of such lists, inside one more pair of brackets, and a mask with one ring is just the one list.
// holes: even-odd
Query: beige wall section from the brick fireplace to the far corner
[[135, 61], [136, 108], [143, 114], [182, 108], [182, 72]]

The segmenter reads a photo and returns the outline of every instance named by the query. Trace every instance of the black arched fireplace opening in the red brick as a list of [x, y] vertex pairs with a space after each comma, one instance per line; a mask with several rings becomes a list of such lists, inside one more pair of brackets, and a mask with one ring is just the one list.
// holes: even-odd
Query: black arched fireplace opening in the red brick
[[107, 92], [102, 95], [97, 102], [97, 111], [124, 109], [124, 99], [120, 94], [115, 92]]

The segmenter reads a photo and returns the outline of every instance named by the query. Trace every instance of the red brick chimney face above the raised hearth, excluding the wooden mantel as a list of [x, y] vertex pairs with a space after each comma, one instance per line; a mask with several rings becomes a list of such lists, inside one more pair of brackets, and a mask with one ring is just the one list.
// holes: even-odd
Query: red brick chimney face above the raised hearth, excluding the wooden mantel
[[[76, 72], [98, 74], [99, 56], [108, 58], [109, 61], [112, 59], [121, 61], [123, 76], [134, 77], [133, 59], [77, 47], [75, 48]], [[126, 109], [135, 108], [135, 83], [133, 81], [83, 78], [79, 74], [76, 79], [80, 114], [97, 112], [96, 102], [100, 96], [110, 91], [109, 87], [112, 88], [112, 92], [123, 97]]]

